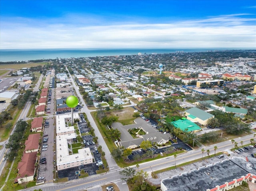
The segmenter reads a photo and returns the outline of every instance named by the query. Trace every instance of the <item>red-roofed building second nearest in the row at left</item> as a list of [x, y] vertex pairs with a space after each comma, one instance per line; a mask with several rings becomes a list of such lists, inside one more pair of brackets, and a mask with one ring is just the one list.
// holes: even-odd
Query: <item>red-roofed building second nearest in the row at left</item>
[[28, 139], [25, 141], [25, 150], [24, 152], [30, 153], [30, 152], [37, 152], [39, 148], [39, 139], [40, 139], [40, 133], [36, 134], [30, 134], [28, 136]]

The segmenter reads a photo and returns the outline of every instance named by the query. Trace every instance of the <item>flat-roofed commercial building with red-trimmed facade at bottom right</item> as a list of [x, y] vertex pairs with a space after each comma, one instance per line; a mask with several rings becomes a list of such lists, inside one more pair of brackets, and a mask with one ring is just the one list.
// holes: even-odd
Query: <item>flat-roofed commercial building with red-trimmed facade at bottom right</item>
[[242, 181], [255, 182], [256, 163], [252, 157], [248, 158], [249, 162], [240, 157], [224, 159], [162, 179], [161, 190], [226, 191], [242, 185]]

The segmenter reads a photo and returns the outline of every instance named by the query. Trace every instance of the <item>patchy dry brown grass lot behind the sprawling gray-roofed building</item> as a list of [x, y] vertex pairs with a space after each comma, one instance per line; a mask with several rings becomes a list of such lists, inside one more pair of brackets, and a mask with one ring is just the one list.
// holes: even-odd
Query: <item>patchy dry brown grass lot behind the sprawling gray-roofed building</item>
[[106, 116], [118, 116], [118, 122], [122, 123], [123, 125], [134, 124], [133, 120], [135, 117], [132, 115], [134, 114], [134, 108], [126, 107], [121, 110], [114, 110], [105, 112]]

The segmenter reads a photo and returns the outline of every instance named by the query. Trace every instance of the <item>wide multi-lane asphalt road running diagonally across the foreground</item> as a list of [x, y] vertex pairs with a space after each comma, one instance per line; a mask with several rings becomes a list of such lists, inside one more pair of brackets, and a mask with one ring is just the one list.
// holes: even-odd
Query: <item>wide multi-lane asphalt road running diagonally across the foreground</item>
[[[246, 144], [250, 144], [250, 139], [254, 138], [253, 134], [250, 134], [248, 136], [244, 136], [244, 137], [240, 137], [240, 138], [236, 138], [234, 139], [236, 142], [238, 142], [238, 146], [240, 141], [244, 142], [244, 145]], [[234, 144], [232, 144], [231, 140], [227, 140], [225, 142], [221, 142], [218, 144], [215, 144], [218, 149], [216, 150], [216, 153], [221, 152], [222, 150], [227, 150], [227, 149], [231, 149], [232, 147], [234, 147]], [[210, 150], [210, 154], [214, 154], [214, 146], [208, 146], [205, 147], [204, 150], [204, 154], [203, 156], [207, 156], [206, 150]], [[175, 159], [173, 156], [169, 156], [169, 157], [165, 157], [162, 159], [156, 159], [154, 161], [150, 161], [150, 162], [146, 162], [146, 163], [141, 163], [139, 170], [143, 170], [148, 172], [149, 175], [151, 175], [152, 171], [156, 171], [156, 170], [160, 170], [160, 169], [164, 169], [170, 166], [174, 166], [175, 163], [176, 165], [178, 164], [182, 164], [185, 163], [187, 161], [192, 161], [194, 159], [199, 159], [202, 158], [202, 151], [201, 148], [198, 150], [191, 150], [188, 151], [184, 154], [179, 154], [177, 156], [177, 158]], [[136, 171], [138, 170], [136, 168], [136, 166], [130, 166], [133, 167], [134, 169], [136, 169]], [[120, 179], [120, 174], [119, 171], [121, 171], [121, 168], [118, 169], [110, 169], [110, 171], [106, 174], [101, 174], [101, 175], [94, 175], [92, 177], [87, 177], [84, 179], [78, 179], [78, 180], [74, 180], [72, 182], [67, 182], [67, 183], [60, 183], [60, 184], [44, 184], [44, 185], [40, 185], [40, 186], [36, 186], [33, 187], [33, 189], [42, 189], [43, 191], [79, 191], [81, 189], [88, 189], [91, 187], [99, 187], [100, 185], [104, 185], [107, 183], [116, 183], [119, 187], [120, 190], [124, 190], [124, 187], [127, 187], [126, 183], [124, 181], [122, 181]], [[24, 191], [28, 191], [31, 190], [30, 189], [24, 189]]]

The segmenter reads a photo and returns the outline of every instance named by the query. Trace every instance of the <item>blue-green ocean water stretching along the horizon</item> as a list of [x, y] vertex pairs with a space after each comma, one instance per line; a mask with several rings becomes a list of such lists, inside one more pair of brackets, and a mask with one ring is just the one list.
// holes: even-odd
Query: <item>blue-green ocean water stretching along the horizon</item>
[[[2, 49], [0, 62], [28, 61], [37, 59], [56, 59], [70, 57], [95, 57], [115, 55], [138, 55], [138, 53], [175, 53], [175, 51], [206, 52], [209, 50], [228, 50], [230, 48], [204, 48], [204, 49]], [[230, 49], [231, 50], [231, 49]]]

